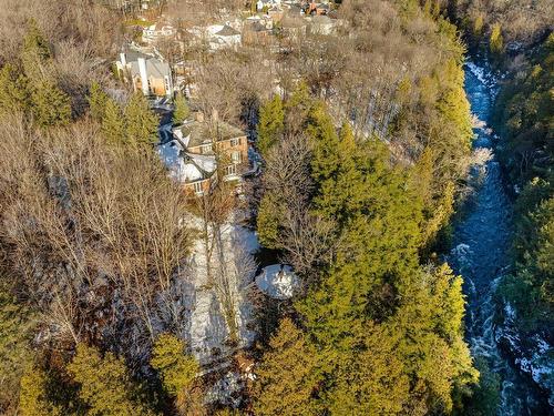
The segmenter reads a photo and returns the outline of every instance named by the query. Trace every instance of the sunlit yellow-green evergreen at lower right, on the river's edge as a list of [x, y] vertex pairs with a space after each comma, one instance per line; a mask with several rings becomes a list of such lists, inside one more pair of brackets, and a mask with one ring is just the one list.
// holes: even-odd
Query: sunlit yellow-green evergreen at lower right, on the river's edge
[[402, 305], [387, 325], [398, 336], [397, 352], [410, 377], [412, 407], [450, 413], [452, 392], [476, 383], [468, 345], [463, 342], [462, 280], [448, 266], [414, 272], [400, 291]]

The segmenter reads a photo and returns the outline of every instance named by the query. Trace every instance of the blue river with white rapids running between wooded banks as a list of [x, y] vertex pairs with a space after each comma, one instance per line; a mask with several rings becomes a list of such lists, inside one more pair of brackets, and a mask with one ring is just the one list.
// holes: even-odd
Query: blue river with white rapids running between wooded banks
[[[493, 93], [479, 68], [469, 65], [465, 71], [465, 92], [472, 113], [481, 124], [474, 129], [476, 150], [493, 152], [490, 121]], [[512, 240], [512, 202], [504, 184], [502, 172], [494, 154], [473, 172], [479, 183], [469, 202], [468, 213], [455, 225], [454, 244], [449, 262], [464, 277], [468, 296], [466, 338], [473, 356], [483, 356], [492, 369], [502, 378], [500, 416], [547, 415], [544, 399], [529, 376], [521, 374], [512, 359], [504, 355], [495, 342], [494, 290], [502, 276], [509, 272], [510, 244]]]

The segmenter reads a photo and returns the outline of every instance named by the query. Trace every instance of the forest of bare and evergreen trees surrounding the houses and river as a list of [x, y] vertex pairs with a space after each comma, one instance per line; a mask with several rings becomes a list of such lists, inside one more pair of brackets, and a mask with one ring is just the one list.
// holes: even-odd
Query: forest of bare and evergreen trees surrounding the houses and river
[[[255, 2], [0, 2], [0, 414], [495, 415], [445, 260], [480, 158], [468, 54], [507, 74], [493, 124], [516, 232], [499, 293], [520, 331], [554, 337], [547, 1], [342, 0], [332, 34], [279, 23], [271, 44], [216, 51], [194, 29]], [[240, 192], [191, 195], [161, 161], [166, 121], [113, 64], [146, 9], [177, 27], [156, 51], [187, 63], [170, 124], [248, 135], [260, 168]], [[226, 240], [242, 215], [255, 255]], [[295, 271], [290, 300], [254, 287], [259, 253]], [[199, 354], [187, 319], [207, 291], [225, 335]]]

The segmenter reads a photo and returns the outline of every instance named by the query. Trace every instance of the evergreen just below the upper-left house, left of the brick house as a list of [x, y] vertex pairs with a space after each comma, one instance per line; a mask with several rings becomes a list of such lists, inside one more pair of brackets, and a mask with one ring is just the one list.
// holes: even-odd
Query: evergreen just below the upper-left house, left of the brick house
[[148, 109], [148, 103], [141, 92], [135, 92], [125, 106], [126, 142], [140, 148], [152, 146], [158, 141], [160, 120]]

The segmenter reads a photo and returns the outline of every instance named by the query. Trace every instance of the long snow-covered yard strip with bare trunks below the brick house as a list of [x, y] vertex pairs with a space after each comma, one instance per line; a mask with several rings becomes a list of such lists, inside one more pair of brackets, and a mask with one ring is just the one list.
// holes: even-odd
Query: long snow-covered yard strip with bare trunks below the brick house
[[[191, 302], [183, 337], [193, 355], [206, 366], [233, 354], [237, 347], [247, 347], [255, 339], [253, 305], [248, 301], [248, 285], [256, 270], [252, 254], [259, 247], [254, 232], [229, 221], [219, 230], [208, 227], [204, 237], [201, 219], [191, 221], [198, 232], [188, 258], [185, 297]], [[223, 250], [216, 242], [220, 239]], [[230, 311], [233, 310], [233, 311]], [[235, 321], [237, 344], [229, 343]], [[248, 325], [250, 324], [250, 325]]]

